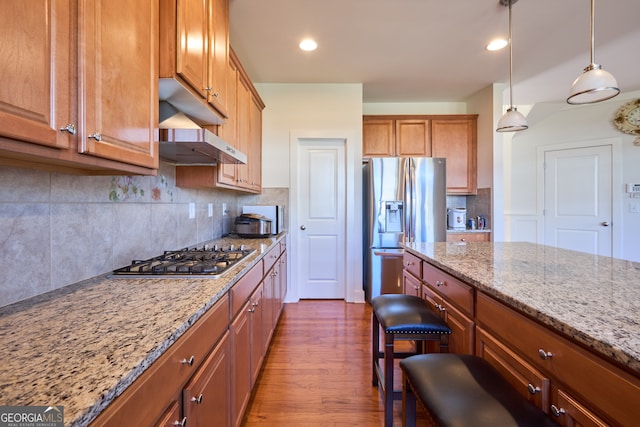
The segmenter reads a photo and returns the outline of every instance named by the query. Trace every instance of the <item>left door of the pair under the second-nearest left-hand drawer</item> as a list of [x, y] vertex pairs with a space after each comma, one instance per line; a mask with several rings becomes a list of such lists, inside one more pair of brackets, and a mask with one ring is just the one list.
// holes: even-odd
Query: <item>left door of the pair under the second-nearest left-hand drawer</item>
[[231, 323], [232, 425], [242, 423], [242, 415], [251, 396], [251, 304], [247, 302]]

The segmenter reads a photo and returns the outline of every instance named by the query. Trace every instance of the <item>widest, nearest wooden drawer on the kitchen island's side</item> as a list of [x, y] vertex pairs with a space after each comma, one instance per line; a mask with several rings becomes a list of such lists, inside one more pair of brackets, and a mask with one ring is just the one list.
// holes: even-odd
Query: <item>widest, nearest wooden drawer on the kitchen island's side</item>
[[[476, 310], [478, 324], [549, 373], [552, 383], [557, 380], [573, 390], [603, 418], [621, 425], [634, 425], [640, 419], [639, 378], [482, 293]], [[540, 351], [551, 356], [543, 359]]]

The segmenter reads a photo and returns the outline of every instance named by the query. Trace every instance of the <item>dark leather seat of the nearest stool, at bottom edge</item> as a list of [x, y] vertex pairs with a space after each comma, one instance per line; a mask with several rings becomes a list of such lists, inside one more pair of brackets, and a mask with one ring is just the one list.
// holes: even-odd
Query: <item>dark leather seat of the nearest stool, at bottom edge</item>
[[416, 400], [438, 427], [558, 426], [480, 357], [422, 354], [400, 367], [404, 426], [415, 426]]

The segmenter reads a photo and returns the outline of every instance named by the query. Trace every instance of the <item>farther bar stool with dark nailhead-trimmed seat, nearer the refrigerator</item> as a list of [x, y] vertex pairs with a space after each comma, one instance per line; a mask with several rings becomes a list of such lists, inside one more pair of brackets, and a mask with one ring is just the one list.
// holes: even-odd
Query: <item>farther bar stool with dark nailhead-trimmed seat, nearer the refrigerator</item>
[[[393, 390], [394, 360], [423, 353], [424, 341], [439, 341], [440, 352], [448, 352], [451, 329], [426, 301], [413, 295], [384, 294], [375, 297], [371, 305], [373, 386], [380, 386], [384, 425], [391, 427], [393, 401], [402, 399], [402, 391]], [[384, 351], [380, 351], [380, 328], [384, 331]], [[396, 340], [415, 341], [416, 351], [395, 351]]]

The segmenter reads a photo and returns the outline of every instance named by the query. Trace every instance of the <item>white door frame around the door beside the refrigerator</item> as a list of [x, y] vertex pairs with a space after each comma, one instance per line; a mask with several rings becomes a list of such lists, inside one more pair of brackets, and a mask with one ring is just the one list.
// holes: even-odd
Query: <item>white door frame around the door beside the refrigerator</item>
[[362, 287], [362, 156], [358, 156], [361, 147], [353, 130], [292, 130], [289, 133], [289, 226], [291, 251], [288, 251], [291, 266], [291, 280], [285, 302], [298, 302], [299, 227], [298, 206], [294, 200], [298, 192], [298, 141], [306, 139], [334, 139], [344, 141], [345, 148], [345, 301], [364, 303]]

